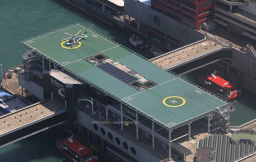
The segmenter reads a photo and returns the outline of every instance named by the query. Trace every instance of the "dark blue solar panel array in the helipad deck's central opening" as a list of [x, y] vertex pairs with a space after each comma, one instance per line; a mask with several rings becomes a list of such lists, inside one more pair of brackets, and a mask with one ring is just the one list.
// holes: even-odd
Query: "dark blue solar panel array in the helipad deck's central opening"
[[138, 80], [137, 78], [135, 78], [134, 76], [125, 73], [124, 71], [122, 71], [121, 69], [115, 67], [114, 65], [106, 62], [104, 64], [101, 64], [99, 66], [100, 69], [102, 69], [103, 71], [109, 73], [110, 75], [120, 79], [121, 81], [123, 81], [124, 83], [128, 84], [131, 83], [135, 80]]

